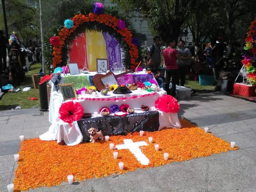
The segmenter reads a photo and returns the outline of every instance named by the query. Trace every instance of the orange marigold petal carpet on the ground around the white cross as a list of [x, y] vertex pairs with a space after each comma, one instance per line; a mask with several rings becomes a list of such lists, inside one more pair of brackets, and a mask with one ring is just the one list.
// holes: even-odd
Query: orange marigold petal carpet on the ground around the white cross
[[[67, 182], [69, 174], [74, 175], [74, 180], [100, 178], [238, 149], [231, 148], [228, 142], [205, 133], [186, 120], [180, 119], [180, 123], [182, 129], [144, 132], [142, 137], [139, 132], [134, 132], [126, 136], [110, 136], [109, 141], [97, 140], [95, 143], [80, 143], [72, 147], [38, 138], [24, 140], [20, 144], [20, 161], [15, 171], [14, 188], [23, 191], [42, 186], [51, 187]], [[153, 137], [153, 143], [148, 143], [148, 137]], [[128, 149], [109, 149], [109, 143], [123, 144], [124, 139], [132, 139], [133, 142], [144, 140], [148, 143], [148, 146], [140, 147], [149, 159], [148, 165], [140, 164]], [[159, 144], [159, 151], [155, 150], [156, 143]], [[118, 151], [117, 159], [113, 158], [114, 151]], [[164, 160], [165, 152], [169, 153], [167, 161]], [[124, 162], [123, 171], [118, 167], [121, 161]]]

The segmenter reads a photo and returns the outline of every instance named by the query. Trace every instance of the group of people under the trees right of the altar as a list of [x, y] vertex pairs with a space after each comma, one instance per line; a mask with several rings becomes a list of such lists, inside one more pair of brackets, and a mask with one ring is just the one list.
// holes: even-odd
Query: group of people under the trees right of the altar
[[[188, 47], [185, 47], [183, 40], [177, 42], [178, 48], [176, 48], [175, 40], [171, 39], [164, 42], [164, 75], [161, 74], [161, 70], [159, 69], [161, 64], [161, 48], [159, 41], [160, 38], [155, 36], [154, 44], [148, 49], [148, 56], [145, 57], [146, 68], [154, 74], [159, 86], [164, 88], [167, 94], [172, 96], [176, 95], [176, 84], [184, 86], [186, 75], [188, 75], [190, 71], [196, 74], [198, 72], [206, 73], [206, 71], [212, 73], [212, 68], [214, 67], [225, 68], [231, 65], [241, 64], [240, 58], [238, 62], [233, 60], [234, 55], [231, 54], [228, 44], [223, 42], [223, 38], [221, 37], [216, 42], [215, 46], [212, 47], [211, 43], [208, 43], [205, 50], [198, 47], [196, 52], [195, 50], [190, 50]], [[236, 55], [241, 57], [241, 53], [236, 53]], [[170, 89], [170, 82], [172, 82], [172, 89]]]

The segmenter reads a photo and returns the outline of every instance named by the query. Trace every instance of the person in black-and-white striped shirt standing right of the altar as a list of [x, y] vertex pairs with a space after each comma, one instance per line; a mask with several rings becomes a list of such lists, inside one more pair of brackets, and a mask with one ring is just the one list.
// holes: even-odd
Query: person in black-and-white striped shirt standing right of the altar
[[158, 69], [160, 67], [160, 64], [161, 64], [161, 55], [160, 55], [161, 49], [159, 47], [160, 38], [159, 38], [159, 36], [155, 36], [153, 38], [153, 40], [154, 40], [154, 44], [152, 44], [149, 47], [148, 56], [153, 58], [153, 60], [154, 60], [154, 67], [156, 69]]

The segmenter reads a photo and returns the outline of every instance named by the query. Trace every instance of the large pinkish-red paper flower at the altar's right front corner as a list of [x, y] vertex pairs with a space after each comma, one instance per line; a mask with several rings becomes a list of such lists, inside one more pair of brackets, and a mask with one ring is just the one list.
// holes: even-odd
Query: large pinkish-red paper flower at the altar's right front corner
[[155, 102], [155, 107], [157, 110], [166, 113], [177, 113], [180, 110], [180, 104], [171, 95], [163, 95], [159, 97]]

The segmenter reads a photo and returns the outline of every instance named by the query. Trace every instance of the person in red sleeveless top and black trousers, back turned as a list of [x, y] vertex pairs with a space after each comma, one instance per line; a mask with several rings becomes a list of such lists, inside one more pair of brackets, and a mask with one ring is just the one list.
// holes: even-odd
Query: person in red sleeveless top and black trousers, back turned
[[[172, 95], [173, 97], [176, 95], [176, 84], [179, 81], [179, 70], [176, 60], [180, 59], [179, 52], [176, 49], [173, 49], [175, 47], [175, 40], [172, 39], [171, 41], [165, 42], [165, 46], [167, 48], [164, 49], [163, 55], [164, 55], [164, 65], [165, 65], [165, 74], [166, 74], [166, 80], [165, 80], [165, 90], [168, 95]], [[172, 77], [172, 92], [170, 91], [170, 81]]]

